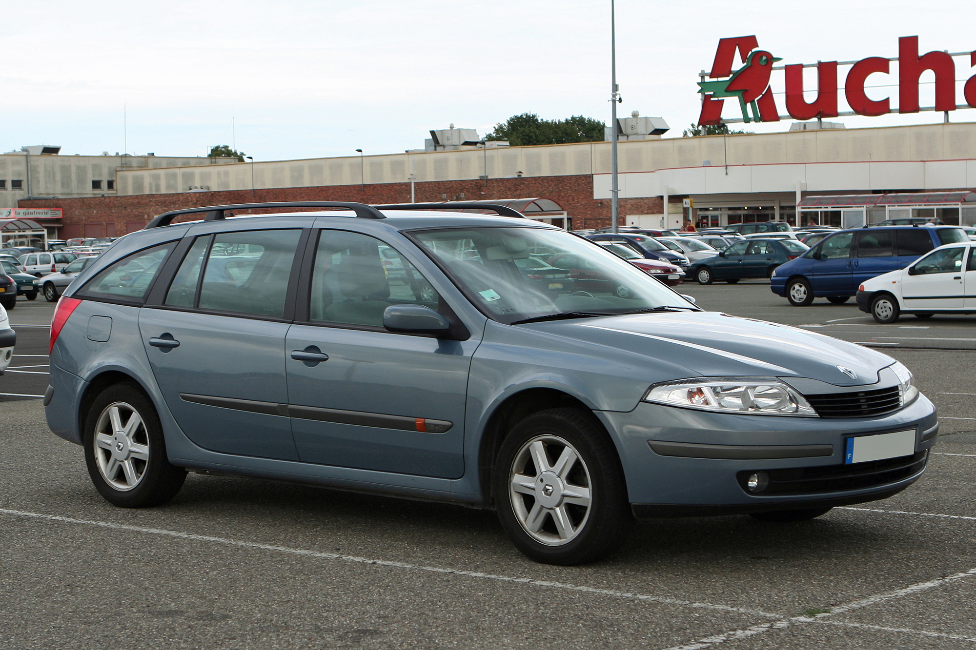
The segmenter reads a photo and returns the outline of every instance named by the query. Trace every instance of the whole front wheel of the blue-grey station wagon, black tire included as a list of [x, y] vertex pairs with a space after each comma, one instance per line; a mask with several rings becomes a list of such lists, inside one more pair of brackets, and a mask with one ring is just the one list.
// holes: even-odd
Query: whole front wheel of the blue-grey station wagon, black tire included
[[[532, 460], [536, 443], [548, 457], [548, 469], [540, 471]], [[552, 469], [558, 468], [567, 446], [578, 460], [557, 475]], [[495, 506], [502, 527], [512, 544], [537, 562], [573, 565], [600, 559], [624, 542], [633, 524], [617, 451], [603, 427], [585, 410], [549, 409], [522, 420], [503, 441], [494, 472]], [[530, 492], [510, 489], [516, 475], [525, 476], [525, 488]], [[555, 497], [553, 486], [559, 490]], [[564, 501], [563, 490], [568, 494], [573, 487], [588, 490], [586, 508]], [[543, 499], [549, 500], [551, 508], [543, 507]], [[533, 533], [530, 517], [537, 504], [539, 525]], [[569, 520], [571, 534], [565, 534], [566, 526], [556, 526], [553, 517], [557, 513]]]

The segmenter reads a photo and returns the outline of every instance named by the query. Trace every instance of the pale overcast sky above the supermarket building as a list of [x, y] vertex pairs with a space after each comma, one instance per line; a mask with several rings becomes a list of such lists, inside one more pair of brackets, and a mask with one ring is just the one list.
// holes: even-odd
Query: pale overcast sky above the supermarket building
[[[522, 112], [609, 119], [609, 0], [2, 5], [5, 151], [46, 143], [67, 154], [205, 155], [235, 143], [269, 160], [419, 148], [450, 122], [484, 135]], [[898, 37], [916, 34], [921, 52], [976, 50], [974, 19], [972, 0], [618, 0], [620, 111], [661, 115], [666, 137], [679, 137], [698, 118], [697, 74], [722, 37], [755, 34], [783, 63], [848, 61], [896, 57]], [[974, 73], [956, 59], [956, 79]], [[874, 75], [869, 84], [889, 81]], [[932, 86], [922, 88], [931, 105]], [[897, 88], [871, 93], [889, 91], [897, 99]], [[738, 112], [730, 103], [726, 117]], [[952, 119], [976, 121], [976, 109]], [[848, 128], [941, 120], [839, 118]]]

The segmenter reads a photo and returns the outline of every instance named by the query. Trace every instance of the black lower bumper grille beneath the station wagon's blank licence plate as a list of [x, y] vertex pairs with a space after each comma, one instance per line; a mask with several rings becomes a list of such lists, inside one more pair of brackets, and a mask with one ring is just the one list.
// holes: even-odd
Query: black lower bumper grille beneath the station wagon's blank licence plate
[[[924, 469], [927, 459], [928, 452], [920, 451], [913, 456], [870, 463], [766, 469], [764, 471], [769, 474], [769, 485], [759, 496], [847, 492], [897, 483]], [[746, 482], [754, 473], [755, 470], [740, 471], [736, 475], [742, 489], [753, 496], [755, 493], [749, 492]]]

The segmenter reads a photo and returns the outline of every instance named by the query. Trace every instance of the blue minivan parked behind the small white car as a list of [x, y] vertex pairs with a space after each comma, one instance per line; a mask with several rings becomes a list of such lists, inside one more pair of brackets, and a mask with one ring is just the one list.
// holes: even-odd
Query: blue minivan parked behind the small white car
[[939, 226], [863, 227], [838, 230], [799, 258], [779, 266], [770, 289], [793, 306], [814, 298], [846, 303], [865, 280], [905, 268], [937, 246], [969, 241], [962, 228]]

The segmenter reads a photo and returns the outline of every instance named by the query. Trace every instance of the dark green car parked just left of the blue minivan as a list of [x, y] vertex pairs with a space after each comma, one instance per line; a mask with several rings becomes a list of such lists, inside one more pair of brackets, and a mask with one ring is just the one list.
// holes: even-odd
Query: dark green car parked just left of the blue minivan
[[744, 277], [771, 277], [780, 264], [798, 258], [807, 247], [794, 239], [737, 241], [712, 258], [699, 260], [692, 271], [699, 284], [725, 280], [734, 284]]

